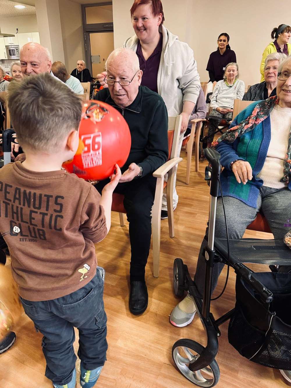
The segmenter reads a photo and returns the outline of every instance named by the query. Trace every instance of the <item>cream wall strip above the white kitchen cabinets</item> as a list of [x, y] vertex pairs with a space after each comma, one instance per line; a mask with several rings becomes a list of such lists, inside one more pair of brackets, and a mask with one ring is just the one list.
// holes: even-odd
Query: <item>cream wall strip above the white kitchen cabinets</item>
[[15, 34], [16, 28], [18, 33], [38, 32], [36, 15], [1, 17], [0, 11], [0, 26], [1, 31], [7, 34]]

